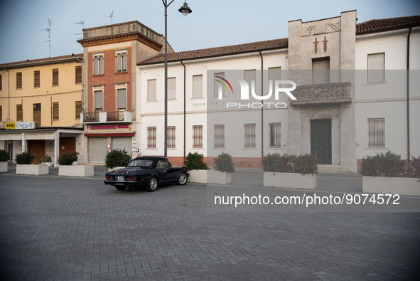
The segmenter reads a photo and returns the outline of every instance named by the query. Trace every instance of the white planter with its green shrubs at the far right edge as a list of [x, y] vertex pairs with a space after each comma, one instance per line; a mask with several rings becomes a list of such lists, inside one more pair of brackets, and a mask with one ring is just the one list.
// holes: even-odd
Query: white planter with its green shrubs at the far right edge
[[420, 157], [409, 163], [392, 152], [363, 157], [360, 174], [363, 192], [420, 196]]

